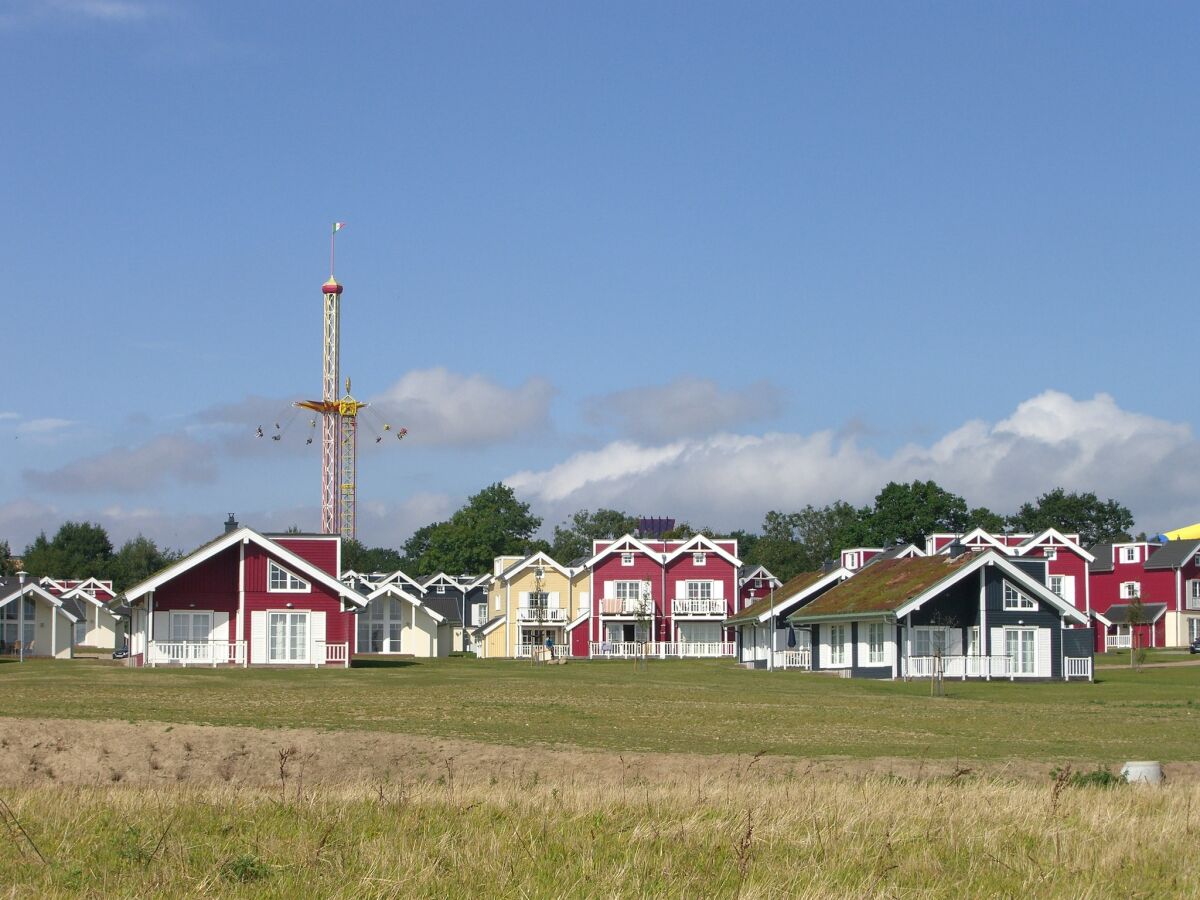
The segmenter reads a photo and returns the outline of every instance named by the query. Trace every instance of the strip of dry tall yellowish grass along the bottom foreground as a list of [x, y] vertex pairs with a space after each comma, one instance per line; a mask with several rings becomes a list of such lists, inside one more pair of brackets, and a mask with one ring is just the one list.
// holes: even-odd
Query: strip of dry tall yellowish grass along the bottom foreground
[[[13, 895], [1162, 896], [1200, 787], [763, 774], [0, 792]], [[353, 764], [350, 761], [347, 764]], [[4, 890], [0, 888], [0, 894]]]

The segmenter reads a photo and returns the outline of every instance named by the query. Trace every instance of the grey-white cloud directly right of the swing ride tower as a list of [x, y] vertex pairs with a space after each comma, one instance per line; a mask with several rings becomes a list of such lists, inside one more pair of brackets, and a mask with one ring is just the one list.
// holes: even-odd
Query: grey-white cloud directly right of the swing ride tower
[[553, 394], [541, 378], [505, 388], [437, 367], [409, 372], [371, 403], [414, 444], [484, 446], [545, 433]]

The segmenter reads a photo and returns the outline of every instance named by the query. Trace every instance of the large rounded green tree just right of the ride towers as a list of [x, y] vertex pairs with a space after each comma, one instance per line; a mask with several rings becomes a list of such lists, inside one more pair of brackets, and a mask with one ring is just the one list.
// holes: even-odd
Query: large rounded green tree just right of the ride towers
[[498, 556], [526, 556], [545, 546], [533, 538], [540, 526], [541, 518], [529, 511], [529, 504], [497, 482], [469, 497], [445, 522], [426, 526], [424, 533], [419, 529], [404, 545], [404, 557], [413, 559], [412, 551], [421, 550], [415, 558], [421, 575], [485, 572]]

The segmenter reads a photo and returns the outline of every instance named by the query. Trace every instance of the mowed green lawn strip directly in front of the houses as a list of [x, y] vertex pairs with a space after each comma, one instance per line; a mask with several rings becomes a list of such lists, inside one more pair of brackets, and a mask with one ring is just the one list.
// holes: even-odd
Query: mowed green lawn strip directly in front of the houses
[[0, 662], [0, 715], [377, 730], [658, 752], [1114, 764], [1193, 760], [1200, 667], [1094, 684], [835, 679], [727, 661], [444, 659], [349, 670]]

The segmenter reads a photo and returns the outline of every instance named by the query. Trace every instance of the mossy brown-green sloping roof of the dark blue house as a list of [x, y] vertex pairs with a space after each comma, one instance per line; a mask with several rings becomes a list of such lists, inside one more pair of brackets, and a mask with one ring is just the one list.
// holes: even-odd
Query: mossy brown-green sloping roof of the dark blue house
[[946, 556], [881, 559], [798, 610], [788, 622], [892, 612], [978, 558], [977, 553], [964, 553], [958, 559]]

